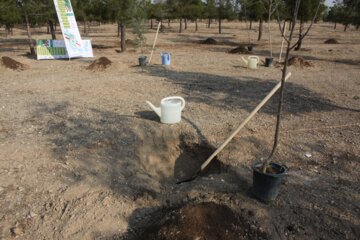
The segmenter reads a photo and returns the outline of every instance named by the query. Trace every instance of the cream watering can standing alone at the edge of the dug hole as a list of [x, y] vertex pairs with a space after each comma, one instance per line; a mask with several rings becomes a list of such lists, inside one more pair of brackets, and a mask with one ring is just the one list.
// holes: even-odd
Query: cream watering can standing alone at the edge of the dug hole
[[185, 100], [182, 97], [173, 96], [163, 98], [160, 107], [155, 107], [151, 102], [146, 101], [152, 110], [160, 117], [162, 123], [177, 123], [181, 121], [181, 111], [185, 107]]

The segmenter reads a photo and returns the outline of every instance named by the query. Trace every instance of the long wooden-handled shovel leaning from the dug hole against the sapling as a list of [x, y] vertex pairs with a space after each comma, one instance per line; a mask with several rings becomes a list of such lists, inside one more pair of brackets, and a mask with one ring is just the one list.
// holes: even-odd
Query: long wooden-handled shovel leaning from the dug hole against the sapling
[[[291, 76], [291, 72], [289, 72], [286, 75], [285, 81], [287, 81], [290, 76]], [[200, 169], [195, 173], [195, 175], [193, 175], [189, 179], [180, 180], [176, 184], [190, 182], [190, 181], [194, 180], [195, 178], [197, 178], [200, 175], [200, 173], [211, 163], [211, 161], [214, 159], [214, 157], [216, 157], [216, 155], [218, 155], [224, 149], [224, 147], [229, 144], [229, 142], [235, 137], [235, 135], [240, 132], [240, 130], [265, 105], [265, 103], [267, 101], [269, 101], [269, 99], [277, 92], [277, 90], [279, 90], [280, 87], [281, 87], [281, 82], [276, 84], [276, 86], [271, 90], [271, 92], [259, 103], [259, 105], [257, 105], [257, 107], [249, 114], [249, 116], [241, 123], [241, 125], [225, 140], [225, 142], [223, 144], [221, 144], [220, 147], [218, 147], [218, 149], [216, 149], [216, 151], [213, 154], [211, 154], [211, 156], [208, 159], [206, 159], [206, 161], [203, 164], [201, 164]]]

